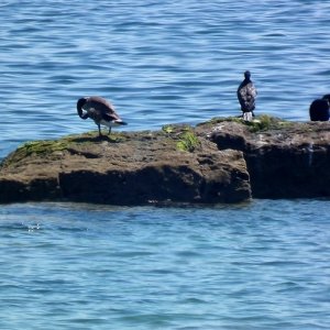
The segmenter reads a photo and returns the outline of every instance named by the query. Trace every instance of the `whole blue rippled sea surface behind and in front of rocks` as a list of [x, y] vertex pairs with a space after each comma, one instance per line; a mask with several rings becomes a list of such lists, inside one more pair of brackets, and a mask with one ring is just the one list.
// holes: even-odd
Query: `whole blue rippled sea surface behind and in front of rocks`
[[[1, 0], [0, 160], [96, 130], [256, 114], [307, 121], [330, 92], [329, 0]], [[0, 329], [330, 329], [329, 200], [0, 206]]]

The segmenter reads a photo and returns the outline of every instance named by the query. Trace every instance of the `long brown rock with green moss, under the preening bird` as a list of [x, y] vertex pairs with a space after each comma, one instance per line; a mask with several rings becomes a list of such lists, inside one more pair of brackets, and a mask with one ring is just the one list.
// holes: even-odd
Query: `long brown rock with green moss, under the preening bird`
[[0, 202], [216, 204], [250, 198], [243, 153], [219, 151], [186, 125], [30, 142], [0, 168]]

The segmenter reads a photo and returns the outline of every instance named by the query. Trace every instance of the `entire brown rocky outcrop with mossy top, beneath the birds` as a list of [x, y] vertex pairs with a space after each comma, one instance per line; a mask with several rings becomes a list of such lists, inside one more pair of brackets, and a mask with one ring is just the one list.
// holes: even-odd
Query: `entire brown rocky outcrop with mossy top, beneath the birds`
[[0, 202], [217, 204], [330, 196], [328, 122], [260, 117], [30, 142], [0, 168]]

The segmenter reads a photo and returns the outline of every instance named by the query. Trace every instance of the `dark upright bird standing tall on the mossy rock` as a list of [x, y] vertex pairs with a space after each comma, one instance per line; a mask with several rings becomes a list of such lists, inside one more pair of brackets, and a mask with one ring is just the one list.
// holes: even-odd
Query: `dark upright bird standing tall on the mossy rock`
[[238, 88], [238, 99], [243, 111], [243, 119], [251, 121], [254, 117], [253, 110], [255, 109], [256, 88], [251, 80], [251, 73], [244, 73], [244, 80]]

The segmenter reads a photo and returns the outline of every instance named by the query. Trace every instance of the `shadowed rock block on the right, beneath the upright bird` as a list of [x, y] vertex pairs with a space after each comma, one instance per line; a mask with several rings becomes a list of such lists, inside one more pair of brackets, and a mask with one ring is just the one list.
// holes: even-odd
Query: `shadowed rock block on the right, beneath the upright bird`
[[220, 121], [209, 127], [219, 150], [243, 152], [253, 197], [329, 197], [330, 124], [262, 120], [268, 122], [257, 127]]

